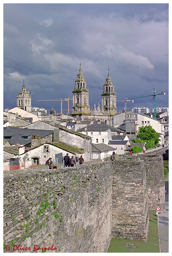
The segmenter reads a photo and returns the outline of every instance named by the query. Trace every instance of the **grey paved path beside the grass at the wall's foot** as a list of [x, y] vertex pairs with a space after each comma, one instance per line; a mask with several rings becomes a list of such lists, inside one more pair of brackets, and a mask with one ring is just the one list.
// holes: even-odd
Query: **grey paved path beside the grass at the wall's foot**
[[168, 177], [165, 180], [165, 208], [160, 210], [159, 215], [159, 241], [161, 252], [168, 252], [168, 226], [169, 226], [169, 218], [168, 218]]

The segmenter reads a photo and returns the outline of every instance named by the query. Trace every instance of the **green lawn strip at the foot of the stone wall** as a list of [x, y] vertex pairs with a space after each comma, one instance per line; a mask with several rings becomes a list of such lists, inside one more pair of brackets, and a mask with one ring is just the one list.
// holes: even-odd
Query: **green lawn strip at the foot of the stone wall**
[[[147, 242], [128, 239], [112, 238], [108, 252], [159, 252], [158, 228], [156, 220], [156, 210], [149, 210], [149, 234]], [[133, 244], [132, 248], [126, 244]]]

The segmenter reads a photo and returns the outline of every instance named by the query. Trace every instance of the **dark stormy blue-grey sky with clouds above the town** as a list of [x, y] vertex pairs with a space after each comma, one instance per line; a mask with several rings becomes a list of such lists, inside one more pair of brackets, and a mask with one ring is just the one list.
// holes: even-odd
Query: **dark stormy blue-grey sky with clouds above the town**
[[[168, 106], [168, 4], [4, 4], [4, 108], [17, 106], [24, 79], [32, 107], [60, 112], [60, 101], [37, 100], [72, 99], [80, 60], [90, 107], [101, 105], [108, 65], [117, 100], [156, 88], [166, 93], [156, 106]], [[127, 103], [136, 106], [152, 112], [152, 96]]]

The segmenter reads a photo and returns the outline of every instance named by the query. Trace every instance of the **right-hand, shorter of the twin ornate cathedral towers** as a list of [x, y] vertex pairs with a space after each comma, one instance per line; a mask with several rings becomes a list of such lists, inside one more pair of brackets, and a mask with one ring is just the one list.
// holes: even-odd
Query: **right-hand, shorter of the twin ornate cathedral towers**
[[104, 84], [104, 91], [102, 91], [102, 111], [108, 111], [110, 115], [116, 113], [116, 91], [114, 91], [114, 84], [112, 79], [109, 76], [108, 68], [108, 77], [106, 78]]

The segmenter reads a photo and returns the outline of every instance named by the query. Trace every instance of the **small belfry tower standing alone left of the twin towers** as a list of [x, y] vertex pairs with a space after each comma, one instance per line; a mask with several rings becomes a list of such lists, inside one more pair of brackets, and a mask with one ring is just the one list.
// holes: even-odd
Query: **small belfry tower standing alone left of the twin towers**
[[17, 107], [25, 111], [32, 112], [31, 93], [29, 93], [29, 91], [26, 90], [24, 79], [21, 91], [19, 91], [19, 93], [17, 94]]

